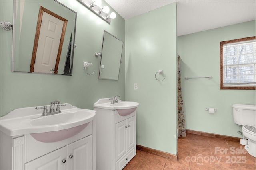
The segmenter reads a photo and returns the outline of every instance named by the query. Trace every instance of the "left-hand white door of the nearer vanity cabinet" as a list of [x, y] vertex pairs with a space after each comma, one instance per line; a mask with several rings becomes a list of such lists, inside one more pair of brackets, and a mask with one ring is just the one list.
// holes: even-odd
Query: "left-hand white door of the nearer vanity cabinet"
[[66, 170], [66, 147], [25, 164], [25, 170]]

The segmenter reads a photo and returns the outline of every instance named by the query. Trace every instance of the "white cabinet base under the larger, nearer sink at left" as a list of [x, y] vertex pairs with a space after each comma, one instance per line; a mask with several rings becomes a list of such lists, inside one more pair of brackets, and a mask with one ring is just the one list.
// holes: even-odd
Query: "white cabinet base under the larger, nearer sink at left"
[[52, 143], [1, 132], [1, 170], [95, 170], [93, 129], [91, 121], [73, 137]]

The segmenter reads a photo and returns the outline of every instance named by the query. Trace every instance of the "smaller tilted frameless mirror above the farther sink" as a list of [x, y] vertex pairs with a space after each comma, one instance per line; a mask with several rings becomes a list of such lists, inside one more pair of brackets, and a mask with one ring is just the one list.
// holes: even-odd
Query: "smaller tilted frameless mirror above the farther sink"
[[118, 80], [123, 42], [104, 31], [99, 79]]

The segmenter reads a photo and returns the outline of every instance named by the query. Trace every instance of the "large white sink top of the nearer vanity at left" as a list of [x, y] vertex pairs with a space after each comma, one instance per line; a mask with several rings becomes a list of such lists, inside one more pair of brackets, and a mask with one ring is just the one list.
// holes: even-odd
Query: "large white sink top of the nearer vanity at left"
[[61, 131], [89, 123], [96, 113], [94, 110], [78, 109], [66, 104], [61, 107], [62, 113], [42, 116], [43, 110], [35, 108], [15, 109], [0, 117], [0, 130], [9, 136]]

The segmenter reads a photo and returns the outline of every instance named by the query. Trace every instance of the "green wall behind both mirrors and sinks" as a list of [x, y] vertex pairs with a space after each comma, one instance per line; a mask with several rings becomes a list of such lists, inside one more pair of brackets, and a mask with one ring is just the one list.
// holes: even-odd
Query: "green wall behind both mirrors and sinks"
[[[77, 12], [73, 76], [11, 72], [12, 31], [0, 28], [1, 116], [20, 107], [48, 105], [53, 100], [93, 109], [99, 98], [119, 94], [125, 99], [125, 48], [118, 81], [98, 79], [100, 57], [94, 56], [95, 52], [101, 52], [104, 30], [125, 41], [124, 19], [116, 13], [116, 18], [108, 24], [76, 0], [59, 1]], [[102, 6], [104, 4], [102, 1]], [[110, 10], [113, 11], [111, 7]], [[12, 22], [12, 0], [0, 1], [0, 21]], [[92, 76], [86, 74], [84, 61], [93, 63]]]

